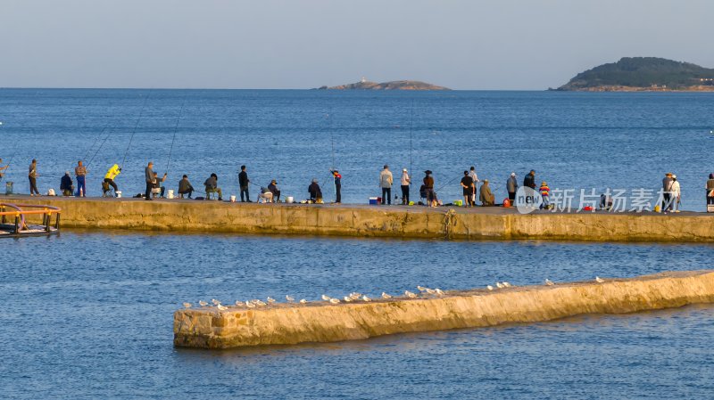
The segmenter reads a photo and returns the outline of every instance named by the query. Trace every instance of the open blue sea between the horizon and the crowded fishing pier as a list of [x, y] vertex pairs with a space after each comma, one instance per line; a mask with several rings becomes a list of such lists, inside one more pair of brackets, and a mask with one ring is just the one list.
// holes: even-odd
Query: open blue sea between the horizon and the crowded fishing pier
[[671, 171], [682, 208], [702, 211], [714, 172], [711, 110], [711, 94], [0, 89], [0, 158], [12, 160], [16, 192], [29, 192], [33, 158], [42, 192], [85, 159], [90, 195], [113, 163], [123, 166], [125, 195], [143, 192], [153, 160], [168, 171], [169, 189], [183, 174], [200, 188], [215, 172], [224, 192], [237, 194], [245, 164], [253, 197], [275, 178], [285, 195], [303, 199], [317, 178], [331, 199], [336, 167], [343, 201], [354, 203], [381, 194], [384, 164], [395, 178], [410, 169], [415, 182], [434, 171], [446, 201], [461, 198], [470, 166], [493, 182], [497, 199], [511, 172], [521, 180], [531, 168], [538, 181], [576, 193], [656, 190]]

